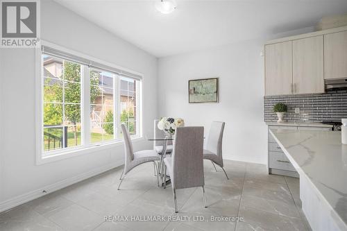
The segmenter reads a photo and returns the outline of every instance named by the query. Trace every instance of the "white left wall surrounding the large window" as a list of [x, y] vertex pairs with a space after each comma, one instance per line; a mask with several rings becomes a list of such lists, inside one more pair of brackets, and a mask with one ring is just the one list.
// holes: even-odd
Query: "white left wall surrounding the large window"
[[[157, 59], [53, 1], [42, 1], [42, 39], [144, 74], [144, 134], [157, 115]], [[0, 209], [48, 185], [117, 166], [123, 146], [35, 165], [35, 51], [0, 49]], [[150, 148], [145, 140], [135, 150]], [[28, 194], [25, 196], [25, 194]]]

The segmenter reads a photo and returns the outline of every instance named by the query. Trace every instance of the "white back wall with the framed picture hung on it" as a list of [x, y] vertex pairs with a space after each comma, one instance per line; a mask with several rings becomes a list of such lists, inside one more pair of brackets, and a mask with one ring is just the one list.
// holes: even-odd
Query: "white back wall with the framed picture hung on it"
[[[203, 51], [158, 60], [158, 117], [182, 117], [187, 126], [225, 121], [223, 157], [245, 162], [267, 162], [264, 123], [264, 42], [313, 31], [301, 28]], [[188, 80], [219, 77], [219, 103], [188, 103]]]

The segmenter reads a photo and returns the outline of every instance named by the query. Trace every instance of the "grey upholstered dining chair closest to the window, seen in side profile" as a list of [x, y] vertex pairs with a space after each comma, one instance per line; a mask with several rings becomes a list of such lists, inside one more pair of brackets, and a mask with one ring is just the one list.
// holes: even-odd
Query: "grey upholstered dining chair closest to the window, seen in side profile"
[[[144, 151], [133, 151], [133, 144], [131, 143], [130, 135], [128, 130], [126, 129], [126, 126], [124, 124], [121, 124], [121, 132], [123, 133], [124, 137], [124, 151], [125, 151], [125, 163], [124, 163], [124, 170], [121, 173], [121, 177], [119, 180], [119, 187], [121, 187], [121, 182], [123, 182], [124, 178], [126, 177], [126, 174], [135, 168], [135, 166], [138, 166], [139, 164], [144, 164], [146, 162], [154, 162], [159, 161], [160, 157], [158, 156], [158, 153], [154, 150], [144, 150]], [[155, 164], [156, 166], [156, 164]], [[158, 172], [158, 167], [155, 167]], [[159, 176], [157, 174], [157, 182], [159, 186]]]

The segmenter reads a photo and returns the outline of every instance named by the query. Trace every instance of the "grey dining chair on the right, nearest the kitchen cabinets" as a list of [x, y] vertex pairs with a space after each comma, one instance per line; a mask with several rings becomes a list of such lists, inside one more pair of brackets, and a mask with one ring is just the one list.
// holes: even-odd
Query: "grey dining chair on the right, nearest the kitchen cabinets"
[[[222, 156], [222, 141], [223, 141], [223, 131], [226, 123], [213, 121], [210, 128], [210, 133], [208, 134], [208, 142], [206, 144], [206, 149], [203, 150], [203, 158], [205, 160], [210, 160], [212, 165], [217, 164], [223, 169], [224, 173], [226, 171], [223, 168], [223, 156]], [[216, 166], [214, 169], [217, 171]], [[226, 178], [229, 180], [228, 175]]]

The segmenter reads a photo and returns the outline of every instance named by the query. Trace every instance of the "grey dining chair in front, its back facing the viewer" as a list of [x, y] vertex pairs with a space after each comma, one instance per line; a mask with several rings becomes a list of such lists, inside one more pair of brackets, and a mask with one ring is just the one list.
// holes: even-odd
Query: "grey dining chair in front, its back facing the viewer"
[[178, 212], [176, 189], [202, 187], [206, 206], [205, 179], [203, 176], [203, 127], [176, 128], [174, 150], [164, 159], [164, 187], [167, 172], [174, 193], [175, 212]]

